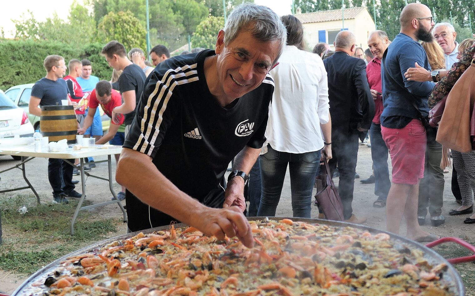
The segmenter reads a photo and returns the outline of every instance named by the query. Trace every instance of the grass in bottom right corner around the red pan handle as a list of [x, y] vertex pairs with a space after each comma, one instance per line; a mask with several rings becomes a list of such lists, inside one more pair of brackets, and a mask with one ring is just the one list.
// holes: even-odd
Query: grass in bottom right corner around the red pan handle
[[[474, 240], [468, 240], [472, 245], [475, 244]], [[465, 249], [464, 247], [456, 243], [445, 243], [438, 245], [434, 248], [437, 253], [442, 255], [445, 259], [459, 258], [470, 256], [472, 253]], [[475, 262], [459, 263], [454, 265], [455, 269], [458, 271], [462, 281], [464, 282], [466, 288], [466, 295], [475, 295]]]

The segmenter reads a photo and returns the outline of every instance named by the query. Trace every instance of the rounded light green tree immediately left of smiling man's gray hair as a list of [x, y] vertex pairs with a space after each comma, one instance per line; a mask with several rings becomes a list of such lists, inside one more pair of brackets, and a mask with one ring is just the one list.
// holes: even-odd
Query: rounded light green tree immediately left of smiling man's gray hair
[[222, 28], [224, 28], [224, 17], [210, 16], [196, 27], [196, 31], [191, 36], [191, 44], [193, 47], [215, 48], [216, 37]]

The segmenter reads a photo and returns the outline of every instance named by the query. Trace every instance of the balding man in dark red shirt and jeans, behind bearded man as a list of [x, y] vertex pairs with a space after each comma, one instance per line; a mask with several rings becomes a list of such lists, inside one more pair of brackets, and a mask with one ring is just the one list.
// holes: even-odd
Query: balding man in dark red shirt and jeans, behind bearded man
[[[381, 58], [391, 41], [388, 39], [386, 32], [377, 30], [370, 34], [368, 38], [368, 46], [373, 59], [366, 66], [366, 76], [370, 85], [371, 94], [374, 100], [374, 118], [371, 122], [370, 138], [371, 138], [371, 158], [373, 159], [373, 176], [374, 194], [378, 199], [373, 203], [376, 208], [382, 208], [386, 205], [391, 182], [389, 180], [388, 169], [388, 147], [381, 136], [380, 116], [383, 111], [382, 87], [381, 87]], [[370, 179], [368, 178], [368, 179]], [[367, 180], [368, 180], [367, 179]], [[361, 180], [361, 183], [367, 180]]]

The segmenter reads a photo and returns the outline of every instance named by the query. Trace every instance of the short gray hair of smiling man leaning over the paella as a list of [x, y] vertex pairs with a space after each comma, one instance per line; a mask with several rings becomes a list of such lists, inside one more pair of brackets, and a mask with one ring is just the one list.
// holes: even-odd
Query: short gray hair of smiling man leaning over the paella
[[280, 42], [278, 55], [273, 61], [273, 64], [276, 64], [287, 42], [287, 30], [277, 14], [268, 7], [254, 3], [242, 3], [236, 6], [224, 26], [224, 45], [228, 46], [241, 31], [246, 29], [259, 41]]

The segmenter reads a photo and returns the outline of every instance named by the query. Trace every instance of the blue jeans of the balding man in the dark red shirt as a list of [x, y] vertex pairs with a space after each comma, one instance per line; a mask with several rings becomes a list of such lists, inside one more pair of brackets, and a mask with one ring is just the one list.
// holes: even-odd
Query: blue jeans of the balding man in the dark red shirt
[[389, 180], [388, 153], [389, 149], [381, 136], [381, 125], [372, 122], [370, 128], [371, 158], [374, 169], [374, 194], [378, 199], [386, 201], [391, 181]]

